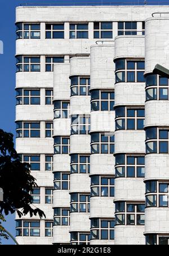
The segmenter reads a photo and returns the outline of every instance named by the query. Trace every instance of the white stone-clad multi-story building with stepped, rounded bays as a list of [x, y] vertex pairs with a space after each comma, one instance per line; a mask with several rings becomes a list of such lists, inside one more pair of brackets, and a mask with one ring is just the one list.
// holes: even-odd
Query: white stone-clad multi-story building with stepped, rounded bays
[[16, 150], [46, 214], [16, 216], [19, 244], [168, 244], [168, 13], [16, 8]]

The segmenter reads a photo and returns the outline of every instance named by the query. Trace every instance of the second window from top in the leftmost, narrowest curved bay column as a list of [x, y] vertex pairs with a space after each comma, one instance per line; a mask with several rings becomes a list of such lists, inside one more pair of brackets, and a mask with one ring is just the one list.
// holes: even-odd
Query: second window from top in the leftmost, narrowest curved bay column
[[64, 136], [54, 137], [54, 154], [69, 155], [70, 138]]

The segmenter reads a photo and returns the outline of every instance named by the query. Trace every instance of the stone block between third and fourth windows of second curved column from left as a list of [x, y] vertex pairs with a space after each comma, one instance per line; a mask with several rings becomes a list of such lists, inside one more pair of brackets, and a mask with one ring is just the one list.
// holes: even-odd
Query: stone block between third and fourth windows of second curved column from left
[[90, 193], [90, 177], [86, 173], [70, 174], [70, 193]]

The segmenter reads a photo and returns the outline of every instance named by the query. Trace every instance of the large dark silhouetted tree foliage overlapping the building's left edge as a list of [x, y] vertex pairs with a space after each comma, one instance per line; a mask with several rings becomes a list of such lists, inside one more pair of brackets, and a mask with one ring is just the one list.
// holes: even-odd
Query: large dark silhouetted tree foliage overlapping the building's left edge
[[0, 214], [16, 211], [19, 217], [30, 214], [46, 217], [39, 208], [32, 208], [32, 196], [29, 194], [37, 187], [35, 178], [30, 175], [29, 164], [21, 163], [14, 148], [13, 134], [0, 129], [0, 187], [3, 189], [3, 202], [0, 202]]

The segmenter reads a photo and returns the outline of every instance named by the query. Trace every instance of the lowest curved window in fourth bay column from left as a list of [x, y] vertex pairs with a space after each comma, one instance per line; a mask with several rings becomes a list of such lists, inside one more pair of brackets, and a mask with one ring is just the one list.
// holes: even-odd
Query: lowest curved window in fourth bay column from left
[[144, 225], [145, 204], [115, 202], [115, 225]]

